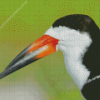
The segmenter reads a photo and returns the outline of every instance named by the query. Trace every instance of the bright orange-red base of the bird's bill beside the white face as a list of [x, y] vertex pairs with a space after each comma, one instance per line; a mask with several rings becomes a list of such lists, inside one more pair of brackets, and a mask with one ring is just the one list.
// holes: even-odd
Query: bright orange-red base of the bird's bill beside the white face
[[58, 41], [58, 39], [55, 39], [49, 35], [43, 35], [30, 45], [30, 49], [27, 54], [44, 47], [44, 49], [41, 49], [41, 52], [36, 56], [36, 58], [39, 59], [45, 57], [56, 51], [56, 45], [58, 44]]

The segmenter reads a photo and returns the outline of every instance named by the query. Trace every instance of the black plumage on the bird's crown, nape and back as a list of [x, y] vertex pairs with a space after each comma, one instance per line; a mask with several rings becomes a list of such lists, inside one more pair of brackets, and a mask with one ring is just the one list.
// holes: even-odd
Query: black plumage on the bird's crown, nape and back
[[[82, 14], [68, 15], [54, 22], [53, 27], [59, 26], [89, 33], [92, 44], [83, 57], [83, 64], [91, 71], [88, 80], [100, 75], [100, 30], [93, 19]], [[100, 100], [100, 78], [86, 83], [81, 92], [87, 100]]]

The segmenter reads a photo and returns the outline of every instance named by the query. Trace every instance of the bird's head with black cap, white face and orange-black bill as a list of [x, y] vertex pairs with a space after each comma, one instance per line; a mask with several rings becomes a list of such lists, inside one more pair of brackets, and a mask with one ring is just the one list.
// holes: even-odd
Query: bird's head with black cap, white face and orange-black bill
[[58, 49], [67, 55], [72, 54], [72, 52], [75, 54], [76, 51], [84, 52], [92, 42], [88, 31], [90, 22], [91, 18], [86, 15], [68, 15], [58, 19], [42, 37], [30, 44], [12, 60], [0, 73], [0, 78], [52, 54]]

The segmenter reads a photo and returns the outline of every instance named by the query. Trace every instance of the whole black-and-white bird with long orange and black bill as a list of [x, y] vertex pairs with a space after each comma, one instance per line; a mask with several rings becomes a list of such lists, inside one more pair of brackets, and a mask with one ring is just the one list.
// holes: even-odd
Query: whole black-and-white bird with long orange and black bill
[[100, 100], [100, 30], [84, 14], [57, 19], [42, 37], [26, 47], [0, 73], [0, 79], [60, 49], [68, 74], [86, 100]]

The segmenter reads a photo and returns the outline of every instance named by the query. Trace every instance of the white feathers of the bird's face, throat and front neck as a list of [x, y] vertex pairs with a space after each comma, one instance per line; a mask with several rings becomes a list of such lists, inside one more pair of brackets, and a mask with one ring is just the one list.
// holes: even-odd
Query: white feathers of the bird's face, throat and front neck
[[45, 34], [59, 39], [57, 48], [63, 52], [66, 69], [81, 90], [90, 75], [90, 71], [82, 64], [87, 47], [92, 43], [89, 34], [64, 26], [51, 27]]

